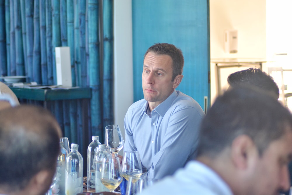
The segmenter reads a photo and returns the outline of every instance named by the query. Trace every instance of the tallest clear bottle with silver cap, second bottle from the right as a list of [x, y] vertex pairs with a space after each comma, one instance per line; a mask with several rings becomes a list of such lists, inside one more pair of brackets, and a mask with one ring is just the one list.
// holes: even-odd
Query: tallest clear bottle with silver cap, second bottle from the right
[[87, 148], [87, 191], [95, 189], [95, 152], [98, 149], [99, 142], [98, 136], [92, 136], [92, 142]]

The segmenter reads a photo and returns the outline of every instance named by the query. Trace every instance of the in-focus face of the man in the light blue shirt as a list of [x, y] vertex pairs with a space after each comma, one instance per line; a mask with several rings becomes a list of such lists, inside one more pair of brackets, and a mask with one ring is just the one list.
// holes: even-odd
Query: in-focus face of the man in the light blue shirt
[[[173, 92], [178, 84], [172, 79], [172, 59], [168, 55], [149, 52], [144, 59], [142, 88], [144, 99], [154, 109]], [[180, 75], [182, 76], [182, 75]]]

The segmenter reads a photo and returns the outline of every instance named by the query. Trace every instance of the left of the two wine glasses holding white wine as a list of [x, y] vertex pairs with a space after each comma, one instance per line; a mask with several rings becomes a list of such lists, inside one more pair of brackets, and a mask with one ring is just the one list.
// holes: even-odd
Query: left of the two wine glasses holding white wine
[[108, 160], [103, 159], [100, 178], [102, 184], [105, 185], [110, 192], [114, 192], [114, 189], [116, 189], [123, 180], [119, 157], [114, 156]]

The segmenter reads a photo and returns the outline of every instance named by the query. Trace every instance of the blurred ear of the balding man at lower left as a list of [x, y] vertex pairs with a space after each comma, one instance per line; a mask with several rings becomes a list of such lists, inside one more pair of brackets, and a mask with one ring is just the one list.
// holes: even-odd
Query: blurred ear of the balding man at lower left
[[49, 170], [41, 170], [32, 177], [29, 182], [31, 194], [45, 194], [52, 182], [53, 173]]

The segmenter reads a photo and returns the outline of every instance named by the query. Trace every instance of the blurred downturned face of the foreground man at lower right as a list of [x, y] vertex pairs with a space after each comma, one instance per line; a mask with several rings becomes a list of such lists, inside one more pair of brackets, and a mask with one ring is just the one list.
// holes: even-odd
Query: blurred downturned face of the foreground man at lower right
[[258, 157], [251, 180], [251, 192], [257, 195], [278, 195], [290, 187], [288, 163], [292, 156], [292, 133], [272, 141], [261, 157]]

